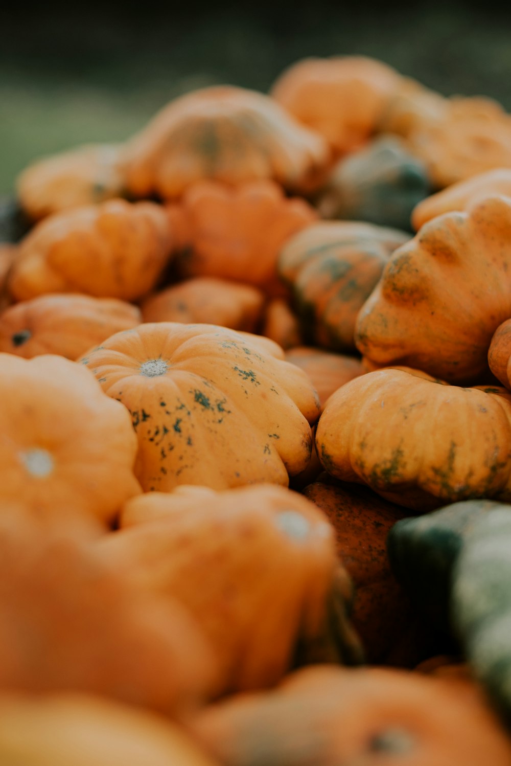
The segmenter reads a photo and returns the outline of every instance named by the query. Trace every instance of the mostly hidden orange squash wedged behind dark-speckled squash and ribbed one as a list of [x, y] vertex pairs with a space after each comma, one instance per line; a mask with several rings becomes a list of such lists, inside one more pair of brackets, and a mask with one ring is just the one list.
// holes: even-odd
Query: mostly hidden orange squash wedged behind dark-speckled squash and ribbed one
[[307, 372], [317, 391], [321, 407], [337, 388], [353, 378], [358, 378], [364, 372], [360, 359], [354, 356], [334, 354], [307, 346], [289, 349], [285, 358]]

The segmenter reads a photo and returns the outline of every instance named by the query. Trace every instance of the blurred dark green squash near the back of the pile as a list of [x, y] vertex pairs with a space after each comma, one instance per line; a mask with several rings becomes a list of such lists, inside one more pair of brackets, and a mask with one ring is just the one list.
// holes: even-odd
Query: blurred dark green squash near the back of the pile
[[321, 218], [408, 229], [412, 210], [429, 187], [424, 163], [397, 136], [382, 136], [340, 159], [316, 205]]

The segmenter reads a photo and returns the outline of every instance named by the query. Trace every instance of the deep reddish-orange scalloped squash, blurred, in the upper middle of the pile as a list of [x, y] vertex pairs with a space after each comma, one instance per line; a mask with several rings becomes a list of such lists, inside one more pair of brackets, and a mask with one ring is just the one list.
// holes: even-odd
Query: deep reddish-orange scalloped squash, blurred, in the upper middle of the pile
[[174, 268], [181, 277], [220, 277], [275, 295], [283, 292], [276, 273], [279, 250], [317, 218], [304, 199], [285, 198], [272, 181], [237, 188], [204, 181], [168, 210], [179, 241]]

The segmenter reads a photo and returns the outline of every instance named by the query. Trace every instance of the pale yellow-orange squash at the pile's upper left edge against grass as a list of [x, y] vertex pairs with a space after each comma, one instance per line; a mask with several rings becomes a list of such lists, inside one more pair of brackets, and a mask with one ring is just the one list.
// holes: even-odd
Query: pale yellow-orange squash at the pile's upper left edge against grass
[[37, 220], [122, 196], [116, 144], [89, 144], [37, 160], [16, 179], [18, 201]]

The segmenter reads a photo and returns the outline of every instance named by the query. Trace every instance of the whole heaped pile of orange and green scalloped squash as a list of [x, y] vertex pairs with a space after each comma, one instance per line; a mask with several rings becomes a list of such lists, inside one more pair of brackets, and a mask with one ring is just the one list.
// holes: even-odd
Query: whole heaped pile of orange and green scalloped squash
[[509, 766], [503, 107], [299, 61], [0, 239], [0, 762]]

